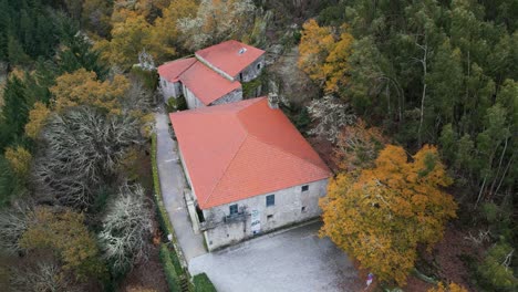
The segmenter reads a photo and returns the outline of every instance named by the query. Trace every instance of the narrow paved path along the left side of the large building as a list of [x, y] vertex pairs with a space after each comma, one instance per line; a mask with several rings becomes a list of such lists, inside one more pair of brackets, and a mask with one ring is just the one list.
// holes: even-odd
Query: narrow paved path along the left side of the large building
[[186, 261], [206, 253], [203, 234], [195, 234], [190, 225], [187, 206], [184, 199], [184, 188], [187, 186], [184, 169], [178, 159], [177, 145], [170, 138], [167, 114], [160, 112], [156, 117], [156, 137], [158, 176], [160, 178], [162, 197], [175, 228], [178, 243]]

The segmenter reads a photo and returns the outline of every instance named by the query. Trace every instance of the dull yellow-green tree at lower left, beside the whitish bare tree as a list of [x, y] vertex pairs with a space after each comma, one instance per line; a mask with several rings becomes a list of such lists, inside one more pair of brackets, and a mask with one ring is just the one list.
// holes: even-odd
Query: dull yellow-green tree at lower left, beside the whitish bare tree
[[95, 237], [83, 223], [82, 213], [38, 207], [34, 216], [35, 220], [20, 239], [23, 249], [29, 252], [35, 249], [52, 250], [63, 261], [63, 268], [74, 271], [79, 280], [105, 274]]

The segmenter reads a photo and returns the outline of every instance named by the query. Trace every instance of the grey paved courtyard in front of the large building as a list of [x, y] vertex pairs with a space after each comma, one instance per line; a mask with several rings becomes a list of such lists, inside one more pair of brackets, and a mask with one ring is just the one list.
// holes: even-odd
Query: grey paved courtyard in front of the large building
[[191, 274], [206, 272], [219, 292], [363, 291], [363, 282], [329, 239], [321, 223], [263, 236], [194, 258]]

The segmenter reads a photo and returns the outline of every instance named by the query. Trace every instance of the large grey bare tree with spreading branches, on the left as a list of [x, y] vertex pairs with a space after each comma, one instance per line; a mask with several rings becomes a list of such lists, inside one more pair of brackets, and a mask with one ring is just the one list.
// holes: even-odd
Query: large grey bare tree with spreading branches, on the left
[[131, 146], [142, 144], [138, 121], [71, 108], [50, 118], [42, 131], [44, 147], [34, 163], [34, 180], [58, 204], [86, 208], [101, 182], [115, 175]]

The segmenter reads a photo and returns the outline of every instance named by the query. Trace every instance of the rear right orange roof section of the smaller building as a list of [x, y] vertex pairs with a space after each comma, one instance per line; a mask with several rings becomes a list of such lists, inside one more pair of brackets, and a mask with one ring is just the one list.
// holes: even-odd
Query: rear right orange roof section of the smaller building
[[199, 50], [196, 55], [201, 56], [211, 65], [235, 77], [263, 53], [265, 51], [260, 49], [230, 40]]

